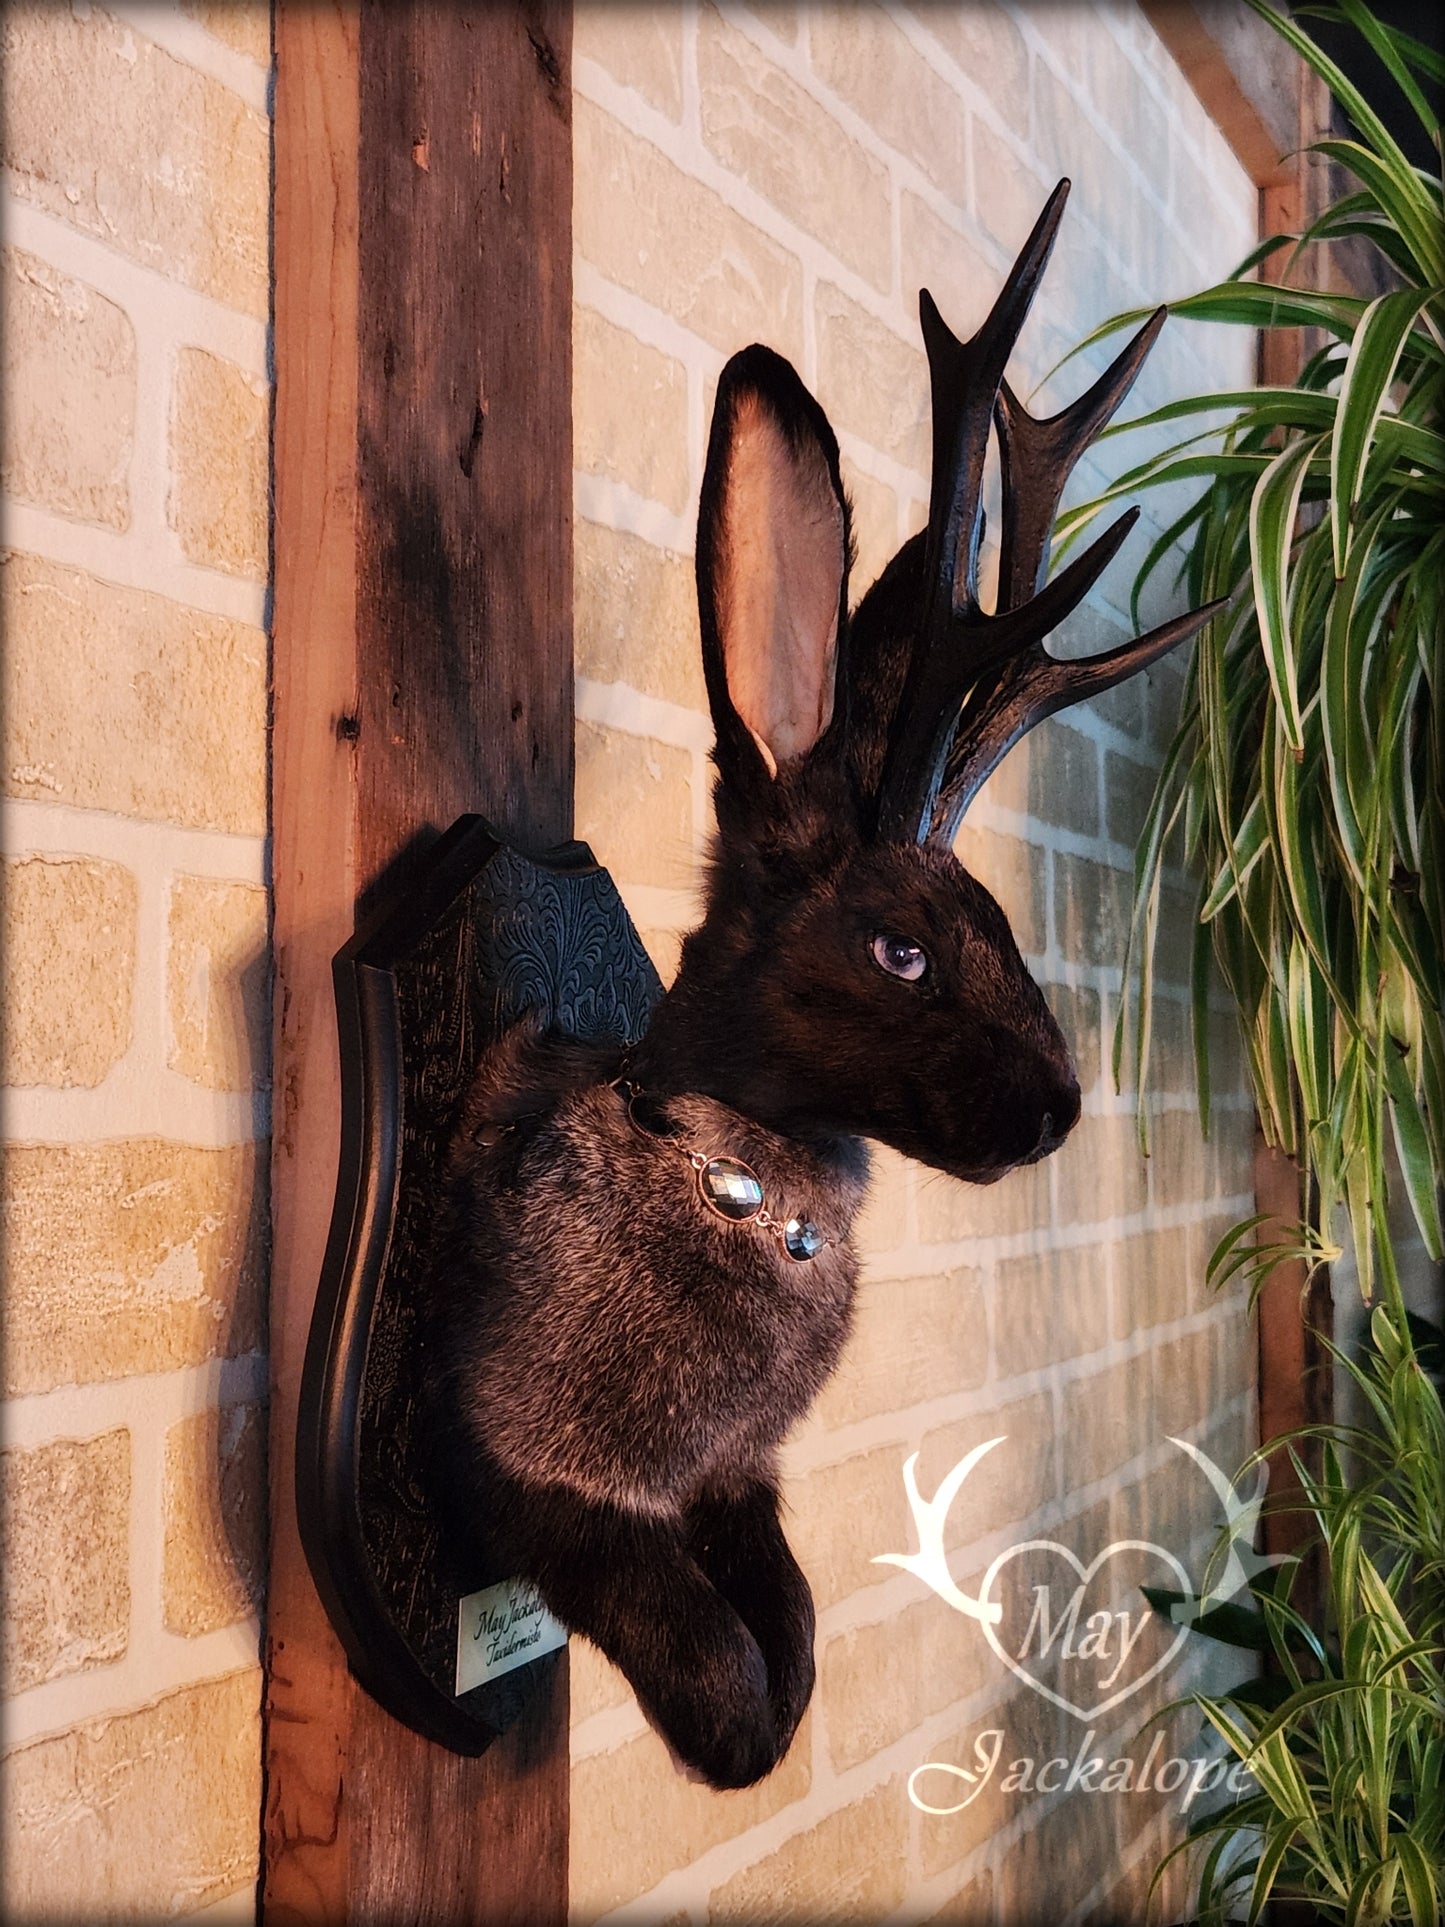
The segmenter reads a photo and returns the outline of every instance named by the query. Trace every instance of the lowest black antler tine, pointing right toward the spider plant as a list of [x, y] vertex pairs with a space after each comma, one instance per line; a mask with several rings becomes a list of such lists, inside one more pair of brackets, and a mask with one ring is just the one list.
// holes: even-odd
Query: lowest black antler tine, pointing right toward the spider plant
[[1081, 703], [1089, 696], [1100, 696], [1116, 682], [1148, 669], [1169, 649], [1198, 634], [1227, 599], [1220, 597], [1202, 609], [1191, 609], [1189, 615], [1173, 617], [1146, 636], [1137, 636], [1133, 642], [1119, 644], [1117, 649], [1106, 649], [1104, 655], [1090, 655], [1083, 661], [1048, 655], [1038, 644], [1025, 655], [1013, 657], [986, 692], [983, 686], [975, 686], [948, 755], [927, 840], [940, 848], [952, 848], [963, 811], [1019, 736], [1025, 736], [1044, 717]]

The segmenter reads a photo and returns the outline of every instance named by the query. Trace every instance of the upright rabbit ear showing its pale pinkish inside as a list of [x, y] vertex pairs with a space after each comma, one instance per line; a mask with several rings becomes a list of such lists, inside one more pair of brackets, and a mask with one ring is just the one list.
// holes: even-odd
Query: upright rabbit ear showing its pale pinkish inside
[[722, 370], [697, 518], [703, 673], [724, 780], [751, 786], [828, 728], [848, 594], [838, 441], [765, 347]]

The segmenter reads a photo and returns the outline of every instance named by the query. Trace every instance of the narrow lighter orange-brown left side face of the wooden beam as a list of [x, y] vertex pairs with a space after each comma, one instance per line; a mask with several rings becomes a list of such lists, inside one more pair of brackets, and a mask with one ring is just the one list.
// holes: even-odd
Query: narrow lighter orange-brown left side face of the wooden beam
[[310, 1301], [335, 1193], [341, 1091], [331, 956], [351, 935], [356, 757], [356, 131], [345, 6], [276, 13], [276, 624], [272, 829], [272, 1557], [266, 1914], [347, 1917], [353, 1682], [293, 1503]]

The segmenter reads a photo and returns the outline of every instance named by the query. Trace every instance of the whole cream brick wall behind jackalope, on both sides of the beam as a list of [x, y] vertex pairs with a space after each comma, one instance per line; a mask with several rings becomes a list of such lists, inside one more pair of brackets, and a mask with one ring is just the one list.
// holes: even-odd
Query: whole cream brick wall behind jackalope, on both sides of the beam
[[[1114, 306], [1235, 260], [1252, 193], [1133, 8], [609, 6], [576, 44], [578, 827], [670, 971], [709, 819], [690, 551], [722, 358], [767, 339], [828, 407], [861, 588], [925, 511], [917, 285], [973, 326], [1071, 172], [1037, 378]], [[268, 60], [260, 6], [4, 25], [8, 1917], [252, 1908]], [[1175, 328], [1144, 395], [1247, 374], [1243, 341]], [[1081, 646], [1123, 632], [1121, 595], [1116, 574]], [[909, 1804], [981, 1725], [1019, 1752], [1077, 1727], [871, 1561], [913, 1544], [904, 1459], [929, 1493], [996, 1434], [950, 1518], [965, 1584], [1025, 1534], [1196, 1561], [1214, 1515], [1164, 1436], [1225, 1465], [1247, 1441], [1250, 1341], [1202, 1260], [1248, 1206], [1248, 1112], [1222, 1075], [1200, 1139], [1177, 929], [1148, 1162], [1106, 1068], [1175, 696], [1160, 673], [1046, 726], [971, 813], [963, 856], [1075, 1041], [1087, 1122], [988, 1193], [879, 1160], [857, 1337], [788, 1449], [815, 1707], [765, 1786], [715, 1796], [578, 1642], [578, 1919], [1143, 1910], [1177, 1802]]]

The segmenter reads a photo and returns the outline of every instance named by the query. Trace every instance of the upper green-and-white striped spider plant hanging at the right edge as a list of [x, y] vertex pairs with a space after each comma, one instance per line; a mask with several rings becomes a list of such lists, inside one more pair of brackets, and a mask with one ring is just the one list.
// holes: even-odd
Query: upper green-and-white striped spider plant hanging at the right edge
[[[1349, 135], [1314, 150], [1353, 185], [1306, 233], [1266, 241], [1171, 312], [1304, 328], [1322, 345], [1289, 387], [1175, 401], [1112, 430], [1173, 434], [1058, 530], [1065, 547], [1116, 497], [1202, 482], [1146, 555], [1135, 613], [1179, 545], [1187, 594], [1223, 597], [1198, 640], [1137, 852], [1139, 990], [1116, 1031], [1116, 1077], [1131, 1025], [1146, 1087], [1160, 883], [1181, 836], [1200, 879], [1193, 1025], [1204, 1127], [1212, 954], [1243, 1021], [1264, 1133], [1299, 1160], [1318, 1201], [1289, 1245], [1252, 1245], [1258, 1220], [1237, 1227], [1214, 1274], [1260, 1274], [1295, 1249], [1312, 1262], [1337, 1256], [1343, 1204], [1366, 1303], [1381, 1289], [1399, 1310], [1387, 1137], [1432, 1258], [1445, 1172], [1441, 181], [1410, 166], [1297, 19], [1250, 4], [1349, 118]], [[1435, 54], [1360, 0], [1300, 12], [1351, 21], [1439, 148], [1420, 85], [1445, 77]], [[1389, 291], [1362, 299], [1258, 277], [1291, 243], [1299, 252], [1337, 241], [1370, 243]], [[1137, 320], [1119, 316], [1090, 341]]]

